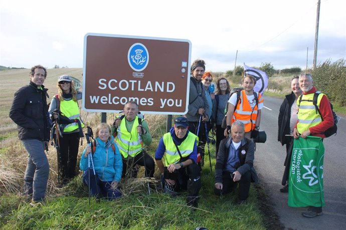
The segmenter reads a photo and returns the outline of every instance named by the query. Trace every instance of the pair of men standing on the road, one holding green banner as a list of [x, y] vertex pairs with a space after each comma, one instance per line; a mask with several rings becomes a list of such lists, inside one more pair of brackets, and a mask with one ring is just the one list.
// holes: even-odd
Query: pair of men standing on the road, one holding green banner
[[[289, 169], [291, 167], [291, 154], [293, 139], [308, 136], [326, 137], [325, 131], [334, 124], [333, 113], [330, 102], [324, 93], [317, 97], [317, 108], [313, 104], [314, 94], [317, 92], [313, 85], [310, 73], [301, 73], [291, 80], [292, 92], [287, 94], [280, 106], [278, 116], [278, 141], [286, 144], [285, 170], [282, 178], [281, 192], [288, 192]], [[323, 199], [323, 197], [322, 197]], [[318, 201], [318, 200], [317, 200]], [[318, 202], [314, 202], [318, 203]], [[302, 212], [304, 217], [315, 217], [322, 215], [322, 206], [312, 203], [306, 211]]]

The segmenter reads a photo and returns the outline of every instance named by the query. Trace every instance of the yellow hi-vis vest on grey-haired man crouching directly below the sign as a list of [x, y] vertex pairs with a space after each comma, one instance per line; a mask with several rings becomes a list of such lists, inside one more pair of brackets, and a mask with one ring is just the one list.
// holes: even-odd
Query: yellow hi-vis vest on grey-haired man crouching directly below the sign
[[138, 116], [136, 116], [133, 121], [131, 132], [128, 132], [126, 128], [126, 117], [124, 117], [117, 128], [118, 134], [115, 140], [124, 158], [127, 158], [128, 155], [134, 157], [142, 150], [139, 133], [137, 132], [138, 125]]

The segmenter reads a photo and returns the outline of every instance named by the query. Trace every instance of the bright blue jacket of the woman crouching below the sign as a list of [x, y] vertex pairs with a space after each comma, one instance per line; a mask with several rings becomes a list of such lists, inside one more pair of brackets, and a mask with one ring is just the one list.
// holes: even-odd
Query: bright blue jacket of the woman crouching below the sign
[[[107, 142], [96, 137], [96, 151], [93, 154], [95, 173], [101, 181], [118, 181], [121, 179], [122, 159], [119, 148], [114, 142], [113, 136]], [[113, 152], [111, 143], [114, 143], [115, 152]], [[85, 171], [88, 169], [89, 157], [84, 157], [85, 150], [82, 153], [79, 167]], [[91, 154], [91, 153], [89, 153]], [[90, 167], [92, 164], [90, 162]]]

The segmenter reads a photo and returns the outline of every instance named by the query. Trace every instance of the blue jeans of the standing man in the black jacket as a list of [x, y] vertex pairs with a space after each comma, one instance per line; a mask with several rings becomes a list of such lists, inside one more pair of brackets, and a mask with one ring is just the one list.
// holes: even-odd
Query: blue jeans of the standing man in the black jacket
[[27, 169], [24, 175], [24, 189], [33, 195], [34, 201], [42, 201], [45, 197], [49, 176], [49, 163], [45, 153], [45, 142], [38, 139], [23, 139], [28, 151]]

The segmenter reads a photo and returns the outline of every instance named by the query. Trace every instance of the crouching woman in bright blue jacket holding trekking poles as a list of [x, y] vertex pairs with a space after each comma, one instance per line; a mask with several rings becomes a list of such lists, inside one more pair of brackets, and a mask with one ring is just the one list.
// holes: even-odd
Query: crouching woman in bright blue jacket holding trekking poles
[[[81, 156], [79, 167], [84, 171], [83, 183], [87, 186], [90, 185], [93, 196], [99, 197], [101, 195], [108, 199], [114, 199], [121, 196], [118, 189], [122, 171], [121, 155], [108, 124], [99, 124], [96, 128], [96, 135], [93, 153], [91, 153], [92, 148], [87, 146]], [[89, 154], [92, 154], [96, 180], [91, 162], [89, 168]], [[90, 170], [90, 184], [88, 184], [88, 170]]]

